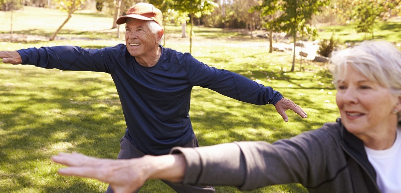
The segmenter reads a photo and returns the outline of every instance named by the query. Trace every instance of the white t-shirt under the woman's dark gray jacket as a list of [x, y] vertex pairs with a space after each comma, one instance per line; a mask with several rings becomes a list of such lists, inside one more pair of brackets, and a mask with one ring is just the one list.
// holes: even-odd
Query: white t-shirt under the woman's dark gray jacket
[[365, 146], [367, 158], [377, 174], [377, 184], [383, 193], [401, 192], [401, 131], [388, 149], [374, 150]]

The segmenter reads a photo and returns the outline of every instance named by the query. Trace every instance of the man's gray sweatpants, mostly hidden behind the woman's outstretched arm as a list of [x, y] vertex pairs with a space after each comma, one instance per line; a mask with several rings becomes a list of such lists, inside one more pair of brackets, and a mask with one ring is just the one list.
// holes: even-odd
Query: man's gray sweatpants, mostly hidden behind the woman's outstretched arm
[[[189, 143], [185, 144], [183, 147], [198, 147], [196, 136]], [[120, 152], [118, 153], [117, 159], [130, 159], [144, 156], [145, 153], [140, 151], [138, 148], [132, 144], [126, 137], [120, 140]], [[170, 186], [177, 193], [214, 193], [215, 188], [213, 186], [194, 186], [194, 185], [184, 185], [180, 183], [172, 183], [170, 181], [162, 180], [168, 186]], [[135, 193], [139, 192], [139, 189]], [[113, 193], [110, 185], [107, 187], [105, 193]]]

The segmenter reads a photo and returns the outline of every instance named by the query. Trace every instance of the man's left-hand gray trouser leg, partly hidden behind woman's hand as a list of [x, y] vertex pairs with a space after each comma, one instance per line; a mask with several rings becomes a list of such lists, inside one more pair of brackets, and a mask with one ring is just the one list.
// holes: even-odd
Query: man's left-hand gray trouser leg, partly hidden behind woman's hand
[[[142, 157], [145, 154], [140, 151], [138, 148], [132, 144], [129, 139], [123, 137], [120, 140], [120, 152], [117, 155], [117, 159], [130, 159], [130, 158], [138, 158]], [[138, 193], [139, 189], [134, 193]], [[110, 185], [107, 187], [105, 193], [113, 193], [114, 191], [111, 189]]]

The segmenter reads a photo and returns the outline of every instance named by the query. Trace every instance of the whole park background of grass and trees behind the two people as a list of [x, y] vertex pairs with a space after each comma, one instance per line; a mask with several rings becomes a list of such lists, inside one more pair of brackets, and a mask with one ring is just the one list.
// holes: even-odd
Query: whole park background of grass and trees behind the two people
[[[25, 1], [22, 6], [18, 1], [0, 1], [0, 50], [59, 45], [102, 48], [125, 43], [124, 28], [114, 26], [115, 14], [134, 2], [100, 2], [101, 11], [99, 1], [76, 3], [80, 9], [60, 28], [69, 17], [65, 12], [68, 7], [63, 10], [60, 5], [70, 5], [71, 10], [73, 2], [77, 1]], [[335, 121], [339, 113], [329, 66], [314, 61], [315, 56], [324, 59], [322, 53], [363, 40], [382, 39], [398, 48], [401, 42], [396, 1], [325, 1], [311, 8], [312, 12], [306, 8], [291, 11], [285, 6], [292, 1], [180, 1], [218, 6], [209, 12], [187, 6], [193, 11], [190, 13], [180, 11], [174, 1], [158, 2], [176, 8], [168, 11], [163, 7], [168, 12], [165, 17], [170, 17], [164, 21], [165, 47], [190, 52], [210, 66], [272, 86], [308, 113], [308, 118], [302, 119], [287, 111], [286, 123], [273, 105], [251, 105], [194, 87], [190, 117], [201, 146], [274, 142]], [[301, 7], [301, 3], [313, 1], [295, 3]], [[283, 27], [273, 31], [269, 26], [287, 25], [278, 19], [287, 12], [278, 11], [278, 7], [288, 9], [289, 15], [302, 13], [309, 20], [295, 22], [292, 30]], [[123, 11], [118, 11], [121, 14]], [[301, 57], [303, 52], [308, 56]], [[114, 159], [124, 130], [121, 104], [108, 74], [0, 63], [0, 192], [104, 192], [106, 183], [57, 174], [63, 166], [50, 157], [59, 152], [80, 152]], [[216, 189], [306, 192], [299, 184], [250, 191], [231, 186]], [[141, 192], [173, 191], [159, 180], [149, 180]]]

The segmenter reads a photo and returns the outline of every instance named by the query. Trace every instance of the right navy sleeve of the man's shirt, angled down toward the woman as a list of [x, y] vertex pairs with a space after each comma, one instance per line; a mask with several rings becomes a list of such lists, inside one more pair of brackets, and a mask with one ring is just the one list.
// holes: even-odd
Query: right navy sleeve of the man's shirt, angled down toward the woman
[[190, 61], [188, 78], [194, 86], [209, 88], [233, 99], [256, 105], [275, 105], [283, 98], [272, 87], [228, 70], [210, 67], [190, 55], [187, 57]]

